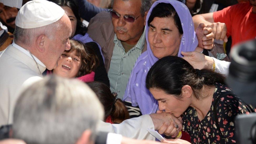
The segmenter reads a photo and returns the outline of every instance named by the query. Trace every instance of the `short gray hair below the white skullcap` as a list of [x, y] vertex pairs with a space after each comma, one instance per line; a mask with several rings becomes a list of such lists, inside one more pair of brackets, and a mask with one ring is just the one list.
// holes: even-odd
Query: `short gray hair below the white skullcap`
[[45, 34], [50, 39], [55, 38], [55, 32], [61, 29], [61, 22], [58, 20], [49, 25], [45, 25], [39, 28], [32, 28], [32, 29], [23, 29], [18, 26], [15, 26], [14, 30], [14, 41], [20, 42], [24, 45], [31, 46], [33, 40], [37, 38], [39, 35]]

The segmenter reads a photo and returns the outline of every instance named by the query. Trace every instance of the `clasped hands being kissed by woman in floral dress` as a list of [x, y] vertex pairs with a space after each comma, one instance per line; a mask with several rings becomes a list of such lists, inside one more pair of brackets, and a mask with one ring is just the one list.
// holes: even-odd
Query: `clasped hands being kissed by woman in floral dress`
[[[152, 115], [152, 114], [151, 114]], [[154, 122], [155, 130], [158, 130], [159, 134], [165, 134], [167, 136], [176, 137], [179, 131], [182, 130], [182, 121], [176, 118], [174, 115], [165, 113], [163, 111], [157, 111], [157, 114], [153, 116], [158, 116], [158, 119], [152, 120], [157, 121]], [[179, 128], [177, 129], [175, 126], [178, 125]]]

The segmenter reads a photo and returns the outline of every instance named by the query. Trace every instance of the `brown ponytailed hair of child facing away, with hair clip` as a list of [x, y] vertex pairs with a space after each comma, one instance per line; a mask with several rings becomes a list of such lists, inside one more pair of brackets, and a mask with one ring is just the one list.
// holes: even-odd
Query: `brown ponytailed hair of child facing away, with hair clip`
[[110, 115], [114, 124], [129, 119], [129, 112], [121, 99], [115, 99], [109, 87], [102, 82], [89, 82], [88, 86], [96, 93], [104, 106], [105, 120]]

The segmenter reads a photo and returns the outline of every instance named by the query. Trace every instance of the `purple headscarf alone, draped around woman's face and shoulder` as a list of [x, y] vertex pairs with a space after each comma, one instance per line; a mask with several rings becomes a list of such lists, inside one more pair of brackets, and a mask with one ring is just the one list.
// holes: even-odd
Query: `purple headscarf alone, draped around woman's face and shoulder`
[[146, 41], [147, 51], [143, 52], [137, 59], [135, 66], [131, 72], [129, 82], [125, 90], [123, 100], [132, 102], [132, 106], [139, 106], [141, 113], [151, 114], [155, 113], [158, 108], [158, 102], [150, 91], [146, 88], [146, 77], [151, 66], [154, 65], [158, 58], [155, 57], [150, 49], [148, 42], [148, 18], [152, 12], [152, 9], [158, 3], [169, 3], [171, 4], [177, 14], [179, 15], [180, 22], [182, 24], [183, 35], [180, 42], [178, 56], [182, 57], [181, 51], [194, 51], [198, 46], [198, 39], [194, 30], [194, 23], [191, 14], [187, 6], [176, 0], [158, 0], [153, 3], [147, 14], [146, 19]]

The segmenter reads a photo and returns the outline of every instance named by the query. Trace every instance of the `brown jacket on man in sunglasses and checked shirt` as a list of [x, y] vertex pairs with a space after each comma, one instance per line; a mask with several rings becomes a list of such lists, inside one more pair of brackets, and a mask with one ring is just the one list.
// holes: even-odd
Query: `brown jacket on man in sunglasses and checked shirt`
[[[96, 41], [102, 47], [102, 53], [105, 58], [105, 68], [109, 71], [110, 61], [114, 50], [114, 28], [109, 12], [101, 12], [93, 17], [88, 25], [88, 31], [90, 38]], [[147, 50], [147, 42], [142, 52]], [[142, 53], [141, 52], [141, 53]]]

